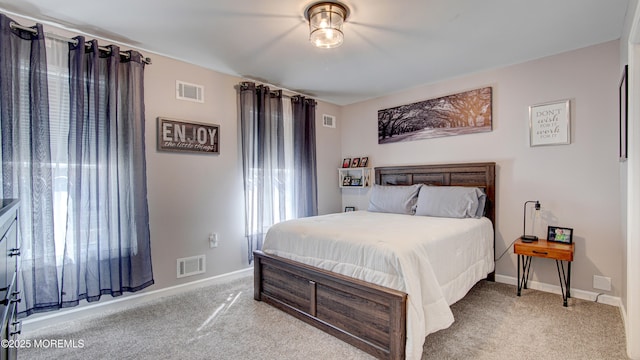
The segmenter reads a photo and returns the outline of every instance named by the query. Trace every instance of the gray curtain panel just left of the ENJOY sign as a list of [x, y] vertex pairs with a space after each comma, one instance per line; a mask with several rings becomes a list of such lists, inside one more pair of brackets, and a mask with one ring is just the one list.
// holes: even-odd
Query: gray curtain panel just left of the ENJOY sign
[[153, 284], [144, 63], [83, 37], [69, 53], [69, 200], [62, 307]]

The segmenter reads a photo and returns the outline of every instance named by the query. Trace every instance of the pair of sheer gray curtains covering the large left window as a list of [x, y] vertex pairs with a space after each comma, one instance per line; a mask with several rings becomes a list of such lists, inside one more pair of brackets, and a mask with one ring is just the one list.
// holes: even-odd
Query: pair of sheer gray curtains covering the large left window
[[[21, 199], [22, 315], [153, 284], [144, 63], [0, 14], [3, 197]], [[45, 53], [46, 51], [46, 53]]]

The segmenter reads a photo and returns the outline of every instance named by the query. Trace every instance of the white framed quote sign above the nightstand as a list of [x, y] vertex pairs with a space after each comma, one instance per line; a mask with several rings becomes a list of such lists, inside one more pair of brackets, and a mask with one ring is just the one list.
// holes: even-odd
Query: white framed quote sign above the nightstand
[[529, 106], [529, 145], [571, 143], [569, 100]]

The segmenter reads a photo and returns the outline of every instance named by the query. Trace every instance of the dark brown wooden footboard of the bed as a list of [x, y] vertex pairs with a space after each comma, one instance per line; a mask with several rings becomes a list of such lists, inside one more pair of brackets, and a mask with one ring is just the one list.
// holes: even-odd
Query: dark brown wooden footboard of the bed
[[377, 358], [404, 359], [407, 294], [254, 252], [254, 298]]

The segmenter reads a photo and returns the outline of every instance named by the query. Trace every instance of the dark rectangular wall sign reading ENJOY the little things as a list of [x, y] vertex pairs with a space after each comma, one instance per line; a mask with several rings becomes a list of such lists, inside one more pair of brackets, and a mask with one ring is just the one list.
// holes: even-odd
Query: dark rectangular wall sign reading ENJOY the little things
[[220, 126], [158, 118], [158, 150], [220, 153]]

